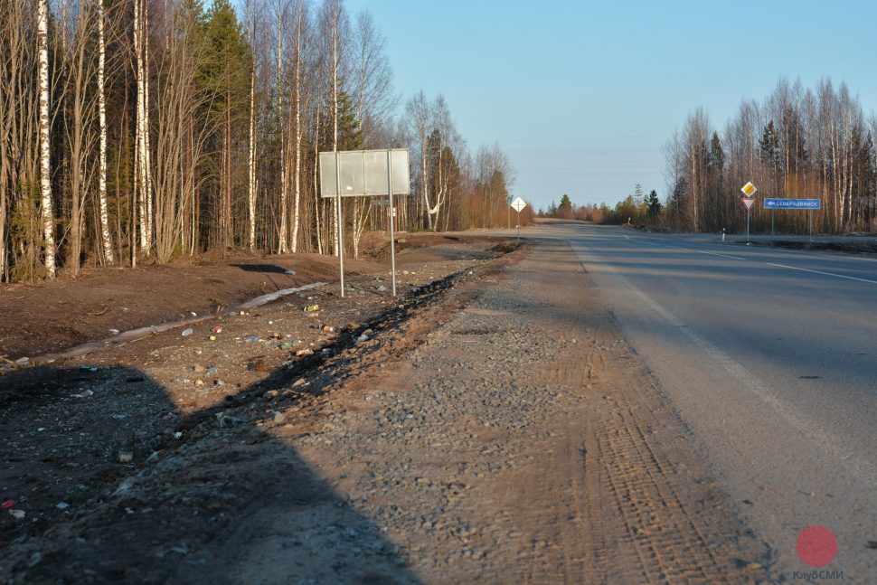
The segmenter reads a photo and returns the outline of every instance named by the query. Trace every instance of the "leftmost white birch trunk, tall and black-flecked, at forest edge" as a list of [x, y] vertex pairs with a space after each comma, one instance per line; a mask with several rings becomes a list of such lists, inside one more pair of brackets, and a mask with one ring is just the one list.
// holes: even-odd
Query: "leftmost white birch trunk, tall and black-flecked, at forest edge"
[[42, 197], [42, 233], [45, 239], [45, 263], [49, 278], [55, 277], [54, 213], [49, 167], [49, 6], [48, 0], [37, 5], [37, 47], [40, 84], [40, 194]]

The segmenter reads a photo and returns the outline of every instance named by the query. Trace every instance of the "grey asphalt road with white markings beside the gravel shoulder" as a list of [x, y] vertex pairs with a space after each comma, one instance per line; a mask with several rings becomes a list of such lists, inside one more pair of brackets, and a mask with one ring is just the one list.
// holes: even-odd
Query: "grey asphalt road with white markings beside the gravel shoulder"
[[[571, 243], [787, 580], [877, 581], [877, 259], [585, 224], [522, 235]], [[820, 569], [796, 552], [812, 525], [837, 539]]]

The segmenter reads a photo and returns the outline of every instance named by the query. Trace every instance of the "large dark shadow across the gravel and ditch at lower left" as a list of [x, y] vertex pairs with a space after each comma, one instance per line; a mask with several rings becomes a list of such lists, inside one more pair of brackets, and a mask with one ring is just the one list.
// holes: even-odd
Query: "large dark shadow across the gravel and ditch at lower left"
[[138, 370], [42, 367], [0, 400], [4, 582], [419, 582], [255, 397], [182, 416]]

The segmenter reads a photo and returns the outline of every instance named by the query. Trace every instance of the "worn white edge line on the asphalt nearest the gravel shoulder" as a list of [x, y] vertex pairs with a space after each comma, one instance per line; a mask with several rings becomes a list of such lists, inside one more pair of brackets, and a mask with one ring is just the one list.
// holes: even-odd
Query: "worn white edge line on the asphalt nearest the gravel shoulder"
[[[599, 256], [599, 254], [595, 255]], [[580, 259], [584, 261], [581, 256]], [[771, 394], [768, 385], [761, 382], [758, 376], [750, 373], [745, 366], [731, 358], [729, 354], [721, 351], [721, 349], [710, 343], [702, 335], [695, 333], [690, 326], [686, 326], [679, 317], [665, 309], [665, 307], [662, 307], [655, 299], [633, 286], [618, 269], [608, 264], [608, 262], [604, 262], [604, 266], [614, 272], [621, 283], [635, 293], [637, 297], [642, 298], [646, 305], [651, 307], [655, 313], [664, 317], [670, 325], [675, 326], [677, 331], [688, 337], [693, 344], [703, 350], [715, 363], [718, 363], [723, 370], [730, 373], [745, 388], [749, 389], [752, 394], [775, 410], [779, 417], [786, 420], [790, 426], [810, 439], [816, 446], [822, 448], [826, 455], [846, 467], [856, 478], [872, 485], [877, 484], [877, 466], [874, 466], [871, 461], [855, 456], [852, 450], [844, 449], [834, 436], [817, 426], [815, 421], [808, 420], [805, 416], [797, 414], [794, 407], [789, 406], [786, 402], [779, 400]]]

